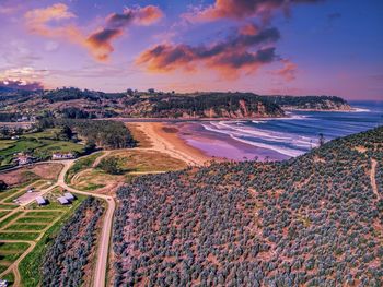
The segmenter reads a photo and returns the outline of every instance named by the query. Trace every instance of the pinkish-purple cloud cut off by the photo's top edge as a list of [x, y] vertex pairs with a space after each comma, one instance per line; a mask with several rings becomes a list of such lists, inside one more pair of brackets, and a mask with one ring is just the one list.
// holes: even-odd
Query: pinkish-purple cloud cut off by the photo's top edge
[[282, 10], [288, 13], [292, 4], [321, 1], [324, 0], [216, 0], [213, 4], [205, 9], [186, 13], [184, 17], [193, 22], [220, 19], [244, 20], [253, 16], [267, 20], [275, 10]]

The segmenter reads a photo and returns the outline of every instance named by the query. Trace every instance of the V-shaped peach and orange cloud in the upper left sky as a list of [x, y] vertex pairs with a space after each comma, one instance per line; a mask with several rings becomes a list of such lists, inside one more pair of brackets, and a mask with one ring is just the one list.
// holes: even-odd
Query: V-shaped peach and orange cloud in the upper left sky
[[[114, 51], [113, 40], [124, 35], [130, 25], [151, 25], [163, 16], [154, 5], [126, 9], [123, 14], [113, 13], [105, 19], [105, 24], [86, 35], [74, 24], [62, 24], [62, 21], [77, 16], [63, 3], [48, 8], [35, 9], [25, 14], [26, 25], [31, 33], [48, 38], [66, 39], [86, 48], [100, 61], [106, 61]], [[55, 25], [51, 25], [51, 24]]]

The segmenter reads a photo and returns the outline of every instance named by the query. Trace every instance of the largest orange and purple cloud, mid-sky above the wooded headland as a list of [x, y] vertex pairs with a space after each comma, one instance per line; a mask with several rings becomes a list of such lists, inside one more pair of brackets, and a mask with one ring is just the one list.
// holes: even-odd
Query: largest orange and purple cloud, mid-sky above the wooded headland
[[253, 73], [264, 64], [278, 59], [275, 44], [280, 35], [276, 28], [240, 27], [235, 36], [206, 46], [162, 44], [143, 51], [136, 63], [152, 72], [177, 69], [194, 71], [198, 65], [217, 70], [225, 79], [235, 79], [240, 72]]

